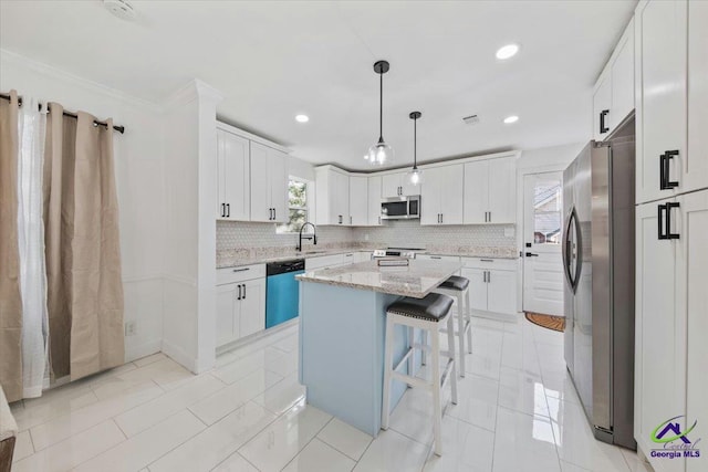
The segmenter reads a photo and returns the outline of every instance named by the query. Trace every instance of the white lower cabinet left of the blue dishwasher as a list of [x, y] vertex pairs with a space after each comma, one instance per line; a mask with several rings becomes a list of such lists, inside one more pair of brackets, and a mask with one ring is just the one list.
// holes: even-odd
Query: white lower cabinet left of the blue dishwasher
[[217, 347], [266, 328], [266, 266], [217, 270]]

